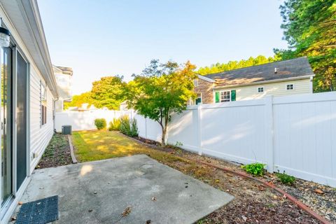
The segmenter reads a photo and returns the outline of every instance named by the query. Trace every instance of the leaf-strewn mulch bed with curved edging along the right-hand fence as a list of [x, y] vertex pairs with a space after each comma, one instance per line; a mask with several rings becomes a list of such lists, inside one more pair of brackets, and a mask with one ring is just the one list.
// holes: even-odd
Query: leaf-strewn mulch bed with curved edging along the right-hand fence
[[[160, 146], [160, 144], [155, 141], [148, 141], [141, 137], [137, 137], [136, 139], [146, 144]], [[162, 148], [162, 150], [179, 155], [181, 158], [190, 161], [198, 160], [235, 171], [242, 171], [237, 163], [200, 156], [195, 153], [183, 151], [174, 146], [167, 146]], [[160, 162], [165, 163], [165, 161]], [[228, 174], [202, 164], [197, 164], [193, 169], [190, 169], [190, 167], [183, 162], [175, 162], [174, 164], [167, 165], [235, 196], [235, 200], [225, 207], [214, 211], [202, 219], [202, 221], [199, 221], [198, 223], [200, 224], [319, 223], [315, 218], [287, 200], [286, 197], [283, 197], [283, 195], [279, 195], [279, 193], [276, 193], [274, 190], [265, 188], [265, 186], [255, 181], [242, 179], [239, 176]], [[328, 221], [336, 223], [336, 189], [301, 179], [297, 179], [293, 186], [285, 186], [276, 179], [274, 174], [269, 173], [260, 178], [265, 181], [272, 181], [276, 186], [297, 197], [298, 200], [301, 200]], [[316, 189], [323, 190], [323, 194], [316, 193]]]

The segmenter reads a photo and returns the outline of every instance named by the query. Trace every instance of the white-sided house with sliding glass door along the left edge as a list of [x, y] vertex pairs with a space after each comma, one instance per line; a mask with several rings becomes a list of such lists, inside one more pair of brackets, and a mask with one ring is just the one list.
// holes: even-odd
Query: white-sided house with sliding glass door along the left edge
[[59, 93], [36, 0], [0, 0], [0, 17], [10, 31], [8, 47], [0, 29], [0, 223], [7, 223], [52, 138]]

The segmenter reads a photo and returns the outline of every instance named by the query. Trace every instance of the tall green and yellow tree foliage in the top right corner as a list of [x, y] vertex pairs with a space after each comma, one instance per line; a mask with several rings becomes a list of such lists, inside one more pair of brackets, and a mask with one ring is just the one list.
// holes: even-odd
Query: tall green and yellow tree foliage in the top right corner
[[316, 74], [314, 91], [336, 90], [335, 0], [286, 0], [280, 10], [289, 49], [274, 49], [276, 57], [308, 56]]

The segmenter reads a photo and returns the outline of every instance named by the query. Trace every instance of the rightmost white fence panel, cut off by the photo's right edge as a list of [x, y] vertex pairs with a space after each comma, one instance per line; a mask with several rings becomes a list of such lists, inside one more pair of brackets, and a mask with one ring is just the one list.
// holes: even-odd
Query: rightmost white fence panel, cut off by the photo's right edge
[[274, 99], [274, 169], [336, 186], [335, 93]]

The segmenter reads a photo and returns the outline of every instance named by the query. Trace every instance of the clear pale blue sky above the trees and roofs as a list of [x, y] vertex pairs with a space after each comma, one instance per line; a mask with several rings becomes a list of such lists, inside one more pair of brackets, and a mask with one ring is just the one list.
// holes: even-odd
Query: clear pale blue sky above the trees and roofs
[[279, 0], [38, 0], [52, 63], [73, 94], [102, 76], [131, 80], [151, 59], [197, 66], [286, 48]]

